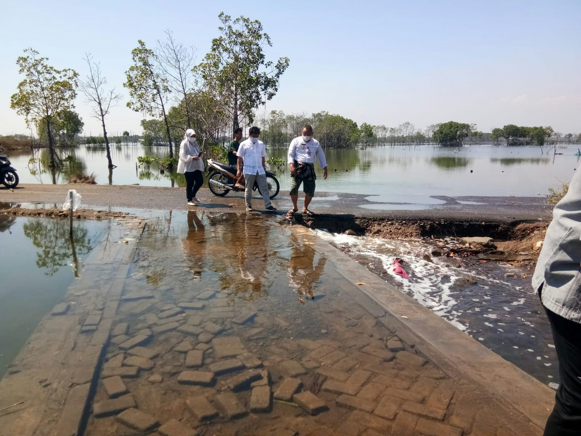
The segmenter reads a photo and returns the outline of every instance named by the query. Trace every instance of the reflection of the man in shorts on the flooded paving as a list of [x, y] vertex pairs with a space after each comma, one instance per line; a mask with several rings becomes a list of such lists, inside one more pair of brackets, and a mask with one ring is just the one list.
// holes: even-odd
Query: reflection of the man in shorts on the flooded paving
[[313, 283], [321, 278], [327, 259], [320, 257], [317, 265], [314, 264], [315, 251], [309, 245], [298, 246], [296, 241], [290, 255], [288, 276], [290, 286], [299, 294], [299, 302], [304, 304], [305, 299], [314, 299]]

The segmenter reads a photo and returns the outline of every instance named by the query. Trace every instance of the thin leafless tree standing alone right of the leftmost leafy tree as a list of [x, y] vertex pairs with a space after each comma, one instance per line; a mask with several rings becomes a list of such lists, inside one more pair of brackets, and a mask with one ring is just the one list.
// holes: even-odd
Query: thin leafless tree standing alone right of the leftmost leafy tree
[[109, 138], [107, 137], [107, 129], [105, 127], [105, 117], [109, 115], [109, 110], [117, 106], [119, 100], [123, 97], [115, 92], [115, 88], [106, 91], [104, 86], [107, 84], [107, 78], [102, 76], [101, 67], [99, 63], [93, 62], [90, 53], [87, 53], [84, 58], [89, 67], [89, 73], [85, 80], [81, 80], [81, 90], [87, 98], [86, 102], [92, 106], [93, 117], [101, 121], [103, 127], [103, 139], [107, 148], [107, 163], [109, 168], [114, 168], [113, 160], [111, 159], [111, 149], [109, 148]]

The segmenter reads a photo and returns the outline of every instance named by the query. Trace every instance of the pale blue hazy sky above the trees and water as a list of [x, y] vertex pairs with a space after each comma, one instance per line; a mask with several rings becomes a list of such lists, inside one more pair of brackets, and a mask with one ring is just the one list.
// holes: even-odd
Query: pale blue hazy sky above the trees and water
[[[10, 109], [26, 47], [81, 76], [91, 52], [125, 95], [107, 130], [140, 131], [142, 115], [125, 107], [123, 88], [137, 40], [153, 46], [169, 28], [201, 59], [221, 11], [260, 20], [272, 38], [268, 55], [290, 58], [266, 110], [327, 110], [388, 127], [456, 120], [483, 131], [513, 123], [581, 132], [579, 0], [4, 3], [0, 134], [26, 133]], [[87, 134], [98, 134], [81, 95], [76, 106]]]

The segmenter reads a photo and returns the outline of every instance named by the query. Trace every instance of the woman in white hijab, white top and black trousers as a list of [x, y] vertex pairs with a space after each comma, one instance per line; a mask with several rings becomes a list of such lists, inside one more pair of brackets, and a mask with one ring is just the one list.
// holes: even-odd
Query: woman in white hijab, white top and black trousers
[[188, 205], [195, 206], [200, 201], [196, 198], [198, 190], [204, 183], [202, 171], [204, 161], [202, 160], [200, 146], [196, 142], [196, 132], [188, 128], [185, 131], [184, 140], [180, 144], [180, 160], [178, 161], [178, 173], [184, 174], [186, 181], [186, 196]]

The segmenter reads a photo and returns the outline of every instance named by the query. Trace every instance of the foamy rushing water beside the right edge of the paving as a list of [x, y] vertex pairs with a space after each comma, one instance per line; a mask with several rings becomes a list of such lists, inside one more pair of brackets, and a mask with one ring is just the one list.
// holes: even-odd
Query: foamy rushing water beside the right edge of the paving
[[[451, 258], [427, 262], [424, 256], [437, 248], [429, 240], [315, 233], [537, 380], [559, 383], [550, 326], [530, 287], [532, 271], [470, 258], [460, 259], [465, 264], [461, 268]], [[395, 258], [406, 261], [409, 280], [394, 273]], [[528, 277], [522, 278], [522, 273]], [[470, 283], [472, 279], [476, 283]]]

